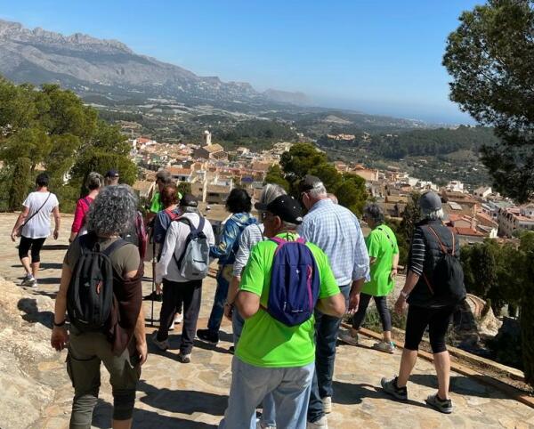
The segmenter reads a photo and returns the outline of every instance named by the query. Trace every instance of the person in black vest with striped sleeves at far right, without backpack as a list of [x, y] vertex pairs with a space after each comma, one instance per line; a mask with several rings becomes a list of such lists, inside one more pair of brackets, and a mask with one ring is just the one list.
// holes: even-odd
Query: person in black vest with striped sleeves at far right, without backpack
[[[457, 237], [443, 223], [441, 198], [434, 192], [426, 192], [419, 199], [423, 221], [417, 223], [409, 250], [408, 275], [401, 295], [395, 304], [396, 312], [403, 312], [409, 304], [406, 321], [406, 338], [402, 352], [399, 376], [382, 379], [384, 392], [397, 399], [408, 400], [406, 384], [417, 361], [419, 343], [429, 328], [433, 361], [438, 376], [438, 393], [430, 395], [426, 402], [443, 413], [452, 412], [449, 399], [450, 359], [445, 344], [452, 313], [457, 301], [452, 296], [437, 296], [429, 281], [441, 257], [441, 248], [447, 247], [453, 256], [459, 257]], [[441, 247], [442, 246], [442, 247]]]

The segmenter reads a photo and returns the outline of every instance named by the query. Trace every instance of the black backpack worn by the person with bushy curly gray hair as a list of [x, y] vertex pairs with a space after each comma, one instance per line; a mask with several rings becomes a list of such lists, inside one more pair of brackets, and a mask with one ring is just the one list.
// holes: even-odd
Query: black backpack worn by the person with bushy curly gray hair
[[113, 307], [114, 270], [109, 257], [125, 246], [117, 239], [105, 250], [93, 233], [79, 238], [81, 254], [74, 267], [67, 293], [69, 320], [82, 332], [101, 331]]

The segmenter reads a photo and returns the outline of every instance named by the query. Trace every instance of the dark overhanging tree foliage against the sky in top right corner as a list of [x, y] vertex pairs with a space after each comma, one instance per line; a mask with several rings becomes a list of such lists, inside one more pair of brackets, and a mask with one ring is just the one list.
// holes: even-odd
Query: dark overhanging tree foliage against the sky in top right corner
[[443, 65], [450, 98], [499, 142], [482, 147], [495, 188], [526, 201], [534, 196], [534, 2], [490, 0], [463, 12], [449, 35]]

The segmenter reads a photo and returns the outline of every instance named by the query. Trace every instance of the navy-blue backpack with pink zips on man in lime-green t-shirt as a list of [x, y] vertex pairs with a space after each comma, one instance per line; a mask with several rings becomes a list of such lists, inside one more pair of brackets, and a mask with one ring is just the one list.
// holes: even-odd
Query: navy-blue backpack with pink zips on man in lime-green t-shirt
[[305, 240], [274, 238], [271, 288], [266, 310], [272, 318], [295, 327], [312, 317], [319, 299], [320, 278], [312, 251]]

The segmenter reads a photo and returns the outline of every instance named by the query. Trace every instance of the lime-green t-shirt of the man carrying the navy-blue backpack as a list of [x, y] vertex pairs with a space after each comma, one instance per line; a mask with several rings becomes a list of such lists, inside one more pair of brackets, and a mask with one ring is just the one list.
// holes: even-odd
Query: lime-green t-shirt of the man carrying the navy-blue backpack
[[[279, 234], [280, 238], [295, 240], [297, 234]], [[320, 274], [319, 298], [339, 293], [336, 279], [330, 269], [328, 256], [319, 247], [307, 242], [312, 250]], [[260, 296], [260, 304], [267, 306], [271, 287], [271, 270], [276, 243], [266, 240], [253, 247], [247, 266], [241, 277], [240, 290]], [[303, 367], [315, 360], [315, 319], [310, 318], [302, 325], [288, 327], [275, 320], [261, 307], [253, 317], [245, 321], [239, 338], [236, 356], [250, 365], [261, 368]]]

